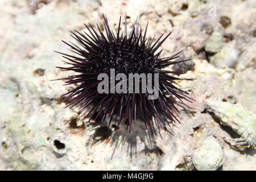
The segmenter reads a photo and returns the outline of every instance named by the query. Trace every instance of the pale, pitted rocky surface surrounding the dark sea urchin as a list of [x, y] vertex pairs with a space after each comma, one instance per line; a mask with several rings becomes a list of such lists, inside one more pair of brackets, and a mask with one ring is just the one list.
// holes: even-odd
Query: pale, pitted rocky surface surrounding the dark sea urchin
[[[243, 133], [221, 122], [238, 117], [244, 126], [251, 115], [241, 119], [218, 107], [228, 104], [256, 113], [255, 1], [3, 0], [0, 5], [0, 169], [203, 169], [192, 156], [213, 136], [223, 154], [218, 169], [256, 170], [255, 149], [231, 146], [223, 137], [235, 139]], [[186, 68], [179, 77], [196, 80], [179, 84], [196, 102], [177, 106], [181, 123], [166, 123], [166, 131], [155, 127], [152, 136], [142, 122], [131, 133], [122, 126], [114, 131], [107, 122], [89, 122], [76, 108], [64, 109], [67, 103], [60, 96], [71, 86], [51, 80], [69, 72], [55, 68], [64, 63], [53, 50], [68, 52], [61, 40], [72, 40], [69, 31], [83, 30], [84, 23], [102, 27], [101, 13], [113, 28], [126, 13], [129, 25], [138, 16], [143, 29], [148, 20], [148, 36], [172, 31], [162, 46], [163, 56], [183, 49], [184, 57], [193, 58], [193, 69]], [[209, 46], [215, 32], [218, 45]], [[209, 105], [209, 100], [218, 105]], [[256, 124], [250, 121], [253, 133]]]

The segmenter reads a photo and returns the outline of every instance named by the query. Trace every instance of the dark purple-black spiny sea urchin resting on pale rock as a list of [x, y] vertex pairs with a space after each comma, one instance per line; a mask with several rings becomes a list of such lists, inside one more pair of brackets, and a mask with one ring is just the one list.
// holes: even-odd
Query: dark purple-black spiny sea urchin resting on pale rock
[[[139, 28], [137, 21], [133, 24], [130, 34], [127, 34], [127, 23], [125, 17], [125, 32], [121, 33], [121, 16], [117, 31], [110, 30], [108, 19], [104, 16], [104, 27], [106, 34], [100, 30], [97, 25], [97, 31], [90, 24], [85, 27], [86, 32], [72, 32], [72, 37], [79, 43], [77, 46], [73, 43], [67, 43], [73, 53], [68, 55], [61, 53], [67, 59], [65, 63], [71, 67], [57, 67], [66, 71], [75, 71], [78, 75], [72, 75], [60, 80], [65, 80], [65, 85], [79, 84], [70, 92], [65, 93], [65, 100], [70, 100], [67, 105], [70, 107], [80, 106], [85, 109], [91, 105], [89, 110], [90, 119], [109, 118], [109, 125], [114, 121], [117, 128], [121, 122], [127, 123], [127, 128], [131, 130], [132, 123], [136, 125], [137, 117], [143, 118], [146, 129], [150, 127], [152, 131], [153, 118], [156, 123], [163, 127], [163, 117], [168, 117], [171, 121], [178, 121], [175, 117], [179, 110], [175, 107], [176, 100], [191, 100], [187, 93], [177, 88], [175, 80], [181, 79], [171, 74], [180, 74], [182, 72], [164, 71], [162, 68], [168, 65], [181, 63], [187, 60], [172, 61], [179, 57], [180, 52], [170, 57], [159, 58], [160, 53], [156, 51], [171, 34], [160, 36], [154, 41], [154, 38], [146, 38], [147, 26], [144, 32]], [[162, 40], [161, 40], [162, 39]], [[127, 77], [129, 73], [156, 73], [159, 75], [159, 96], [155, 100], [148, 99], [152, 93], [146, 90], [146, 93], [99, 93], [97, 90], [100, 73], [110, 75], [110, 69], [115, 69], [115, 74], [124, 73]], [[142, 80], [139, 80], [141, 82]], [[109, 80], [110, 82], [110, 80]], [[117, 81], [116, 81], [117, 82]], [[154, 82], [154, 79], [153, 79]], [[110, 83], [111, 84], [111, 83]], [[155, 86], [155, 84], [152, 84]], [[142, 90], [142, 86], [140, 86]], [[126, 90], [128, 90], [128, 86]], [[155, 89], [155, 88], [154, 88]]]

